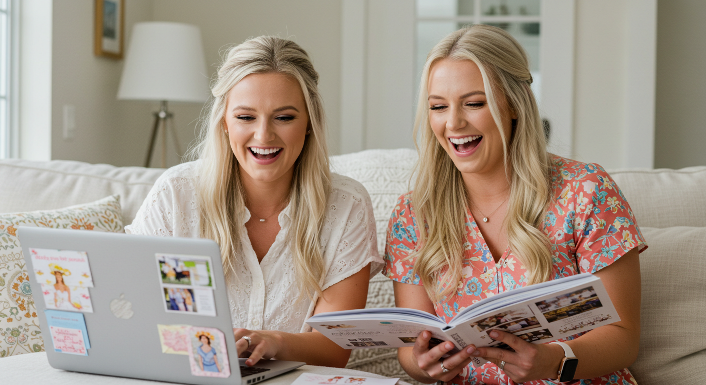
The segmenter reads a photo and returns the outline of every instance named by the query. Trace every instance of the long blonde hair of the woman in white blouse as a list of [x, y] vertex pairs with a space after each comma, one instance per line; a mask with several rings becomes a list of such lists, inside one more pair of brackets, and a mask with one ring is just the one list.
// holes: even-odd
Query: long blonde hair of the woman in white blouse
[[325, 116], [318, 93], [318, 73], [309, 55], [291, 40], [261, 36], [227, 51], [211, 86], [210, 113], [192, 150], [201, 160], [196, 186], [201, 206], [201, 236], [215, 240], [223, 267], [237, 278], [234, 261], [241, 255], [240, 235], [246, 200], [238, 161], [226, 134], [227, 93], [251, 73], [282, 73], [297, 81], [309, 114], [309, 135], [294, 163], [289, 192], [291, 224], [287, 242], [301, 296], [321, 294], [324, 276], [319, 234], [324, 223], [331, 177], [325, 138]]

